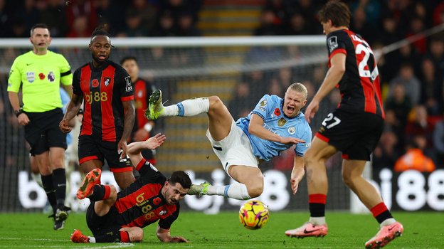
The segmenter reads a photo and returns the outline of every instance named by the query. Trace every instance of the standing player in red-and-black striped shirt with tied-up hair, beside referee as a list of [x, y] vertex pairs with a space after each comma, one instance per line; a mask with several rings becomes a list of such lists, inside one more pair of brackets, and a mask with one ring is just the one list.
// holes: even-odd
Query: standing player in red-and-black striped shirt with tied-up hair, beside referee
[[134, 95], [131, 78], [122, 66], [109, 60], [109, 34], [96, 28], [91, 36], [93, 60], [73, 75], [73, 98], [60, 129], [70, 132], [66, 120], [77, 115], [84, 101], [78, 157], [84, 172], [102, 169], [106, 159], [117, 184], [125, 189], [134, 182], [127, 141], [134, 126]]

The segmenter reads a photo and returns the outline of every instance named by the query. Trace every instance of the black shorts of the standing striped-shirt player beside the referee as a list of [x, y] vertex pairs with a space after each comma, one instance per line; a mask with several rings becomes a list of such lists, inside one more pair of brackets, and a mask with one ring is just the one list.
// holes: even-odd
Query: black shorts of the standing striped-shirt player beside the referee
[[105, 163], [106, 159], [112, 172], [133, 171], [129, 157], [120, 160], [120, 154], [117, 153], [117, 144], [119, 144], [119, 142], [103, 141], [90, 135], [80, 136], [78, 143], [79, 164], [94, 159]]

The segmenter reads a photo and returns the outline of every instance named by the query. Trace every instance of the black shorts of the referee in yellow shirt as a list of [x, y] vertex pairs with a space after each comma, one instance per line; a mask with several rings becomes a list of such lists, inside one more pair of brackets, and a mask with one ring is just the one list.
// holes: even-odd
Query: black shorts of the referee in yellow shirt
[[66, 134], [58, 127], [63, 120], [60, 108], [48, 112], [26, 112], [26, 115], [29, 123], [25, 125], [25, 138], [31, 145], [31, 154], [42, 154], [52, 147], [68, 147]]

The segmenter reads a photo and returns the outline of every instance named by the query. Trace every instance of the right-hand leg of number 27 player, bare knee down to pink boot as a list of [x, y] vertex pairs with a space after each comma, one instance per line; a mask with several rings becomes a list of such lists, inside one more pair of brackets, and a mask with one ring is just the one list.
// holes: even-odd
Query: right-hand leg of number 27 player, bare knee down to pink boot
[[342, 179], [373, 213], [380, 223], [381, 230], [366, 243], [366, 248], [382, 248], [391, 240], [402, 235], [404, 228], [397, 222], [382, 201], [381, 194], [373, 185], [362, 177], [366, 161], [344, 159], [342, 162]]

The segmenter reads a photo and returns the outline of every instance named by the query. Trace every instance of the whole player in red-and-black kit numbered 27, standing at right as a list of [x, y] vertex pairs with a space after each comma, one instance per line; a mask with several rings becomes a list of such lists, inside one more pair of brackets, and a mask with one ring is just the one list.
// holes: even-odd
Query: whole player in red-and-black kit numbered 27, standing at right
[[344, 183], [380, 223], [381, 229], [366, 242], [365, 247], [381, 248], [402, 235], [403, 226], [391, 216], [379, 191], [362, 177], [366, 161], [370, 160], [384, 128], [376, 58], [369, 44], [349, 31], [351, 12], [347, 4], [329, 1], [317, 16], [327, 35], [329, 70], [307, 106], [305, 118], [310, 122], [310, 118], [319, 110], [319, 102], [335, 87], [339, 88], [342, 97], [337, 109], [324, 119], [304, 154], [310, 220], [285, 234], [297, 238], [327, 235], [325, 203], [328, 180], [325, 161], [340, 151], [344, 159]]

